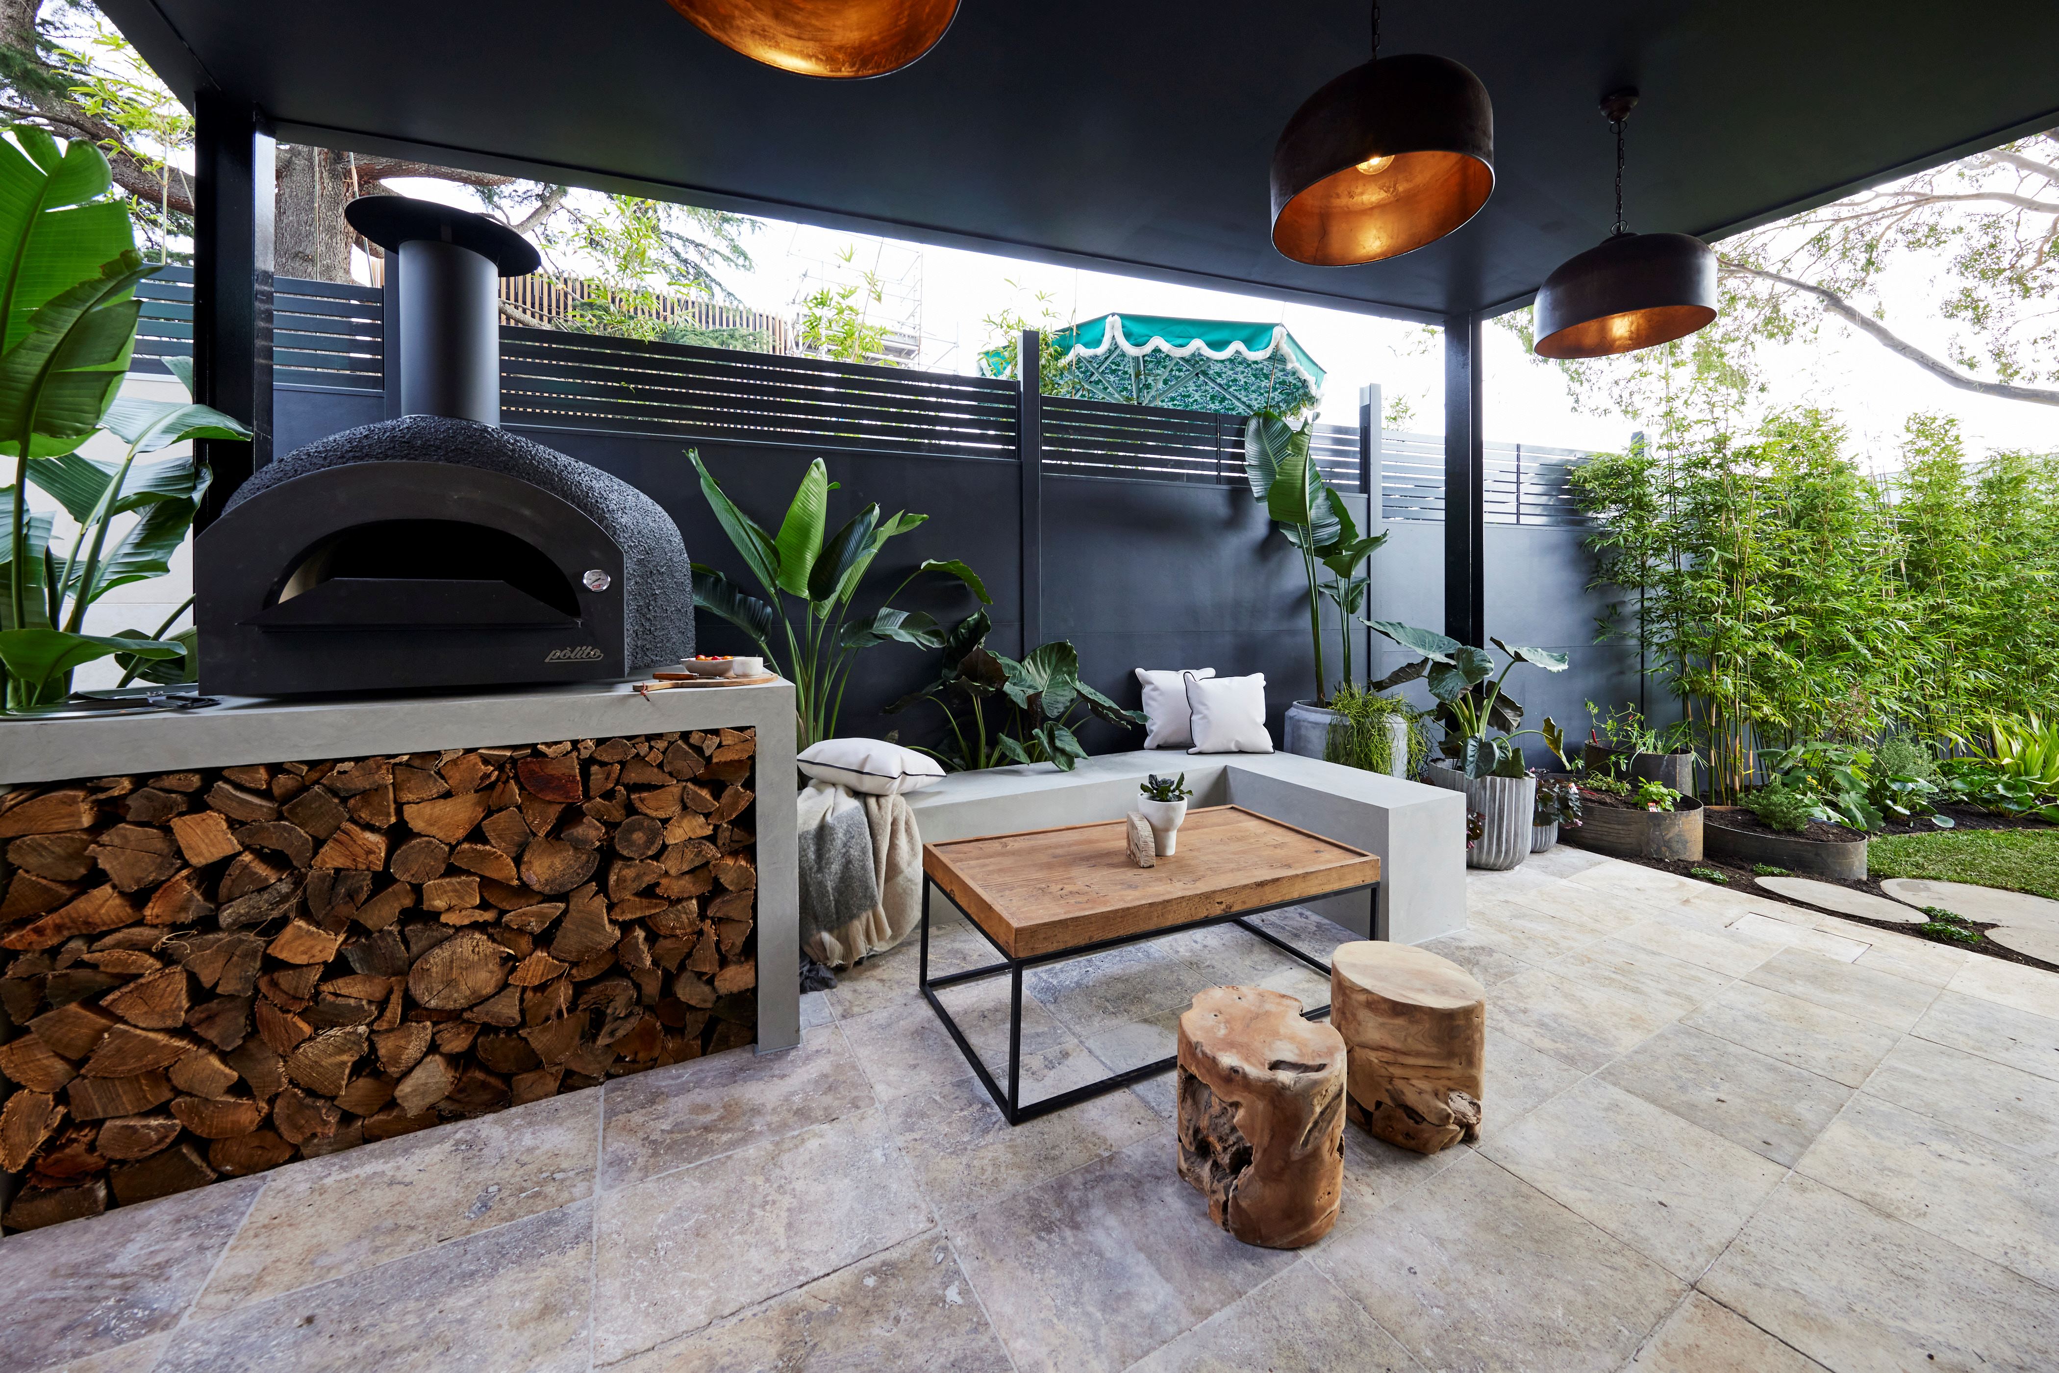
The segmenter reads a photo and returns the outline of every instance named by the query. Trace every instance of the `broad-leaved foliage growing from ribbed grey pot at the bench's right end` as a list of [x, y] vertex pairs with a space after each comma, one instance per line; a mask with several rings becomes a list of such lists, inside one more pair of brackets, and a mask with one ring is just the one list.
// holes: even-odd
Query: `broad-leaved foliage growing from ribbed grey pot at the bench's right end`
[[1382, 679], [1380, 688], [1400, 685], [1427, 677], [1429, 694], [1437, 698], [1433, 718], [1443, 729], [1439, 751], [1450, 758], [1464, 776], [1530, 776], [1524, 766], [1524, 751], [1517, 739], [1538, 735], [1555, 753], [1565, 751], [1565, 733], [1559, 723], [1544, 716], [1544, 729], [1520, 729], [1524, 708], [1509, 698], [1501, 683], [1517, 663], [1542, 667], [1548, 673], [1563, 673], [1567, 657], [1548, 648], [1524, 648], [1491, 638], [1495, 648], [1507, 655], [1501, 673], [1495, 675], [1495, 655], [1487, 648], [1472, 648], [1433, 630], [1417, 630], [1394, 620], [1367, 620], [1367, 626], [1394, 640], [1410, 653], [1423, 657]]

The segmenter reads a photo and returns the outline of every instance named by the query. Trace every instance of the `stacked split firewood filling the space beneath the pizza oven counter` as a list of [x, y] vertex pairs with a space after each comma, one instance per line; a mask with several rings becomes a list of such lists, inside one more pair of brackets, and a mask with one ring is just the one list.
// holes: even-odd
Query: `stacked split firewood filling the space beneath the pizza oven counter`
[[756, 1033], [752, 731], [0, 797], [8, 1229]]

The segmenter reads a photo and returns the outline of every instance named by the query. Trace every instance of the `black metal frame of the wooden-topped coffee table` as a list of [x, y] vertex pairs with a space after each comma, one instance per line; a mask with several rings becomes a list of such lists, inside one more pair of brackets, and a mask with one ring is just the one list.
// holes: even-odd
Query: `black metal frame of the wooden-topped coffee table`
[[[1252, 935], [1258, 935], [1258, 939], [1266, 941], [1268, 945], [1272, 945], [1277, 949], [1283, 949], [1285, 953], [1301, 959], [1303, 963], [1307, 963], [1310, 967], [1314, 967], [1316, 972], [1320, 972], [1324, 978], [1328, 978], [1330, 976], [1330, 965], [1328, 963], [1324, 963], [1322, 959], [1312, 957], [1307, 953], [1301, 953], [1299, 949], [1295, 949], [1285, 939], [1272, 935], [1270, 930], [1264, 930], [1264, 928], [1252, 924], [1250, 916], [1262, 916], [1266, 912], [1287, 910], [1291, 906], [1305, 906], [1307, 902], [1320, 902], [1320, 900], [1330, 897], [1330, 895], [1349, 895], [1353, 891], [1369, 891], [1371, 893], [1369, 900], [1371, 900], [1373, 918], [1367, 924], [1367, 928], [1369, 930], [1377, 930], [1380, 928], [1380, 883], [1377, 881], [1353, 883], [1349, 887], [1336, 887], [1332, 891], [1314, 891], [1314, 893], [1307, 893], [1307, 895], [1297, 895], [1291, 902], [1272, 902], [1270, 906], [1252, 906], [1248, 910], [1231, 910], [1231, 912], [1223, 912], [1219, 916], [1205, 916], [1200, 920], [1186, 920], [1182, 924], [1167, 924], [1167, 926], [1155, 928], [1155, 930], [1139, 930], [1137, 935], [1118, 935], [1116, 939], [1100, 939], [1100, 941], [1095, 941], [1091, 945], [1077, 945], [1073, 949], [1056, 949], [1052, 953], [1036, 953], [1036, 955], [1030, 955], [1030, 957], [1009, 957], [1009, 951], [1003, 949], [1001, 943], [992, 935], [988, 935], [986, 928], [982, 928], [978, 920], [974, 920], [972, 916], [966, 916], [966, 924], [970, 924], [972, 928], [980, 930], [980, 939], [984, 939], [986, 943], [990, 943], [994, 947], [994, 953], [1001, 955], [1001, 961], [999, 963], [986, 963], [984, 967], [970, 967], [966, 972], [945, 974], [941, 978], [931, 978], [929, 976], [929, 904], [931, 904], [931, 893], [933, 893], [935, 887], [937, 887], [935, 879], [931, 879], [929, 873], [924, 873], [922, 875], [922, 965], [920, 965], [918, 986], [922, 988], [922, 996], [929, 1000], [931, 1009], [937, 1013], [937, 1019], [941, 1019], [943, 1027], [951, 1033], [951, 1042], [957, 1044], [957, 1050], [966, 1056], [966, 1062], [972, 1064], [972, 1070], [978, 1075], [980, 1085], [986, 1087], [986, 1095], [990, 1095], [994, 1099], [994, 1105], [1001, 1107], [1003, 1118], [1007, 1118], [1007, 1122], [1011, 1126], [1019, 1126], [1025, 1120], [1036, 1120], [1038, 1116], [1050, 1116], [1052, 1112], [1062, 1112], [1069, 1105], [1079, 1105], [1081, 1101], [1089, 1101], [1089, 1099], [1100, 1097], [1100, 1095], [1110, 1093], [1110, 1091], [1120, 1091], [1122, 1087], [1132, 1087], [1132, 1085], [1145, 1081], [1147, 1077], [1157, 1077], [1165, 1068], [1172, 1068], [1172, 1066], [1176, 1066], [1180, 1062], [1178, 1054], [1174, 1054], [1170, 1058], [1159, 1058], [1157, 1062], [1147, 1062], [1147, 1064], [1141, 1064], [1137, 1068], [1126, 1068], [1126, 1070], [1114, 1072], [1114, 1075], [1110, 1075], [1110, 1077], [1106, 1077], [1106, 1079], [1102, 1079], [1097, 1083], [1087, 1083], [1085, 1087], [1073, 1087], [1071, 1091], [1060, 1091], [1054, 1097], [1044, 1097], [1042, 1101], [1030, 1101], [1025, 1105], [1021, 1101], [1023, 970], [1025, 967], [1040, 967], [1042, 963], [1062, 963], [1065, 959], [1077, 959], [1077, 957], [1085, 957], [1089, 953], [1102, 953], [1106, 949], [1120, 949], [1122, 945], [1137, 945], [1137, 943], [1145, 943], [1149, 939], [1163, 939], [1167, 935], [1184, 935], [1186, 930], [1205, 930], [1205, 928], [1215, 926], [1215, 924], [1235, 924], [1235, 926], [1242, 926], [1242, 928], [1250, 930]], [[937, 998], [937, 992], [941, 988], [957, 986], [962, 982], [976, 982], [980, 978], [997, 978], [1001, 974], [1009, 974], [1009, 1089], [1007, 1089], [1007, 1093], [1001, 1091], [1001, 1085], [986, 1070], [986, 1064], [980, 1062], [978, 1052], [974, 1052], [972, 1044], [966, 1040], [966, 1033], [957, 1027], [957, 1021], [951, 1019], [951, 1013]], [[1324, 1017], [1328, 1013], [1330, 1013], [1330, 1005], [1324, 1002], [1324, 1005], [1316, 1007], [1314, 1011], [1303, 1011], [1301, 1017], [1314, 1021], [1314, 1019], [1320, 1019], [1320, 1017]]]

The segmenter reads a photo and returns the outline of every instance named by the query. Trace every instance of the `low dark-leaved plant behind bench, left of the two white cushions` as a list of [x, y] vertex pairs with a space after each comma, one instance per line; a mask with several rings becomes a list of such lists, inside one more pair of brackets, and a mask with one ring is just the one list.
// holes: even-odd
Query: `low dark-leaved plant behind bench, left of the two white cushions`
[[[1124, 710], [1079, 679], [1073, 644], [1042, 644], [1017, 663], [986, 646], [988, 630], [992, 620], [984, 609], [959, 620], [945, 636], [937, 679], [887, 706], [887, 714], [898, 714], [927, 700], [943, 712], [955, 751], [924, 753], [957, 770], [1050, 764], [1071, 772], [1087, 755], [1073, 733], [1083, 723], [1073, 718], [1075, 710], [1122, 729], [1145, 725], [1143, 714]], [[966, 714], [953, 710], [955, 702], [966, 704]]]

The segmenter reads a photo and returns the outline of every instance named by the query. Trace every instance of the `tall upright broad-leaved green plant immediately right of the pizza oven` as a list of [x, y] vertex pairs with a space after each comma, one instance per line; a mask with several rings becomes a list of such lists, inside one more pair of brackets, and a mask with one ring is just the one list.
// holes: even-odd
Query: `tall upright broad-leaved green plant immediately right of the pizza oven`
[[[869, 504], [844, 521], [842, 529], [826, 535], [830, 492], [836, 490], [836, 484], [830, 482], [830, 469], [817, 457], [801, 476], [801, 486], [787, 506], [778, 533], [766, 533], [723, 494], [698, 451], [688, 449], [688, 457], [700, 471], [700, 494], [706, 496], [717, 523], [723, 525], [723, 533], [737, 548], [743, 566], [752, 570], [766, 593], [766, 599], [758, 599], [714, 568], [696, 562], [694, 605], [714, 611], [749, 634], [774, 667], [784, 663], [782, 671], [795, 683], [801, 747], [836, 735], [844, 685], [850, 681], [852, 659], [859, 653], [885, 642], [918, 648], [945, 644], [943, 628], [927, 611], [881, 605], [871, 615], [850, 618], [850, 601], [859, 595], [859, 585], [871, 570], [873, 558], [879, 556], [887, 539], [908, 533], [927, 521], [927, 515], [896, 513], [889, 519], [879, 519], [879, 506]], [[924, 572], [951, 576], [970, 587], [980, 605], [992, 605], [978, 574], [955, 558], [922, 562], [887, 593], [887, 599], [892, 601]], [[799, 601], [801, 609], [789, 611], [787, 597]]]

